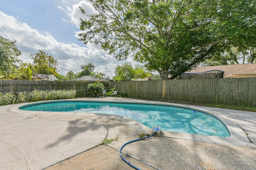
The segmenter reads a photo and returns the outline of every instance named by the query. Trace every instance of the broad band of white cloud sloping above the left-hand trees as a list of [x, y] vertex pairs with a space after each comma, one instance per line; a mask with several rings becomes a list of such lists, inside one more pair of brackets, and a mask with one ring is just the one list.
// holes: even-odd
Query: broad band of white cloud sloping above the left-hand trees
[[81, 64], [93, 63], [96, 66], [95, 72], [106, 72], [112, 78], [116, 64], [121, 63], [103, 51], [100, 45], [88, 43], [86, 47], [81, 47], [74, 43], [58, 42], [50, 33], [42, 35], [28, 24], [20, 23], [3, 12], [0, 12], [0, 33], [3, 37], [16, 41], [18, 49], [22, 51], [20, 59], [24, 63], [32, 63], [29, 54], [42, 50], [58, 60], [58, 70], [63, 75], [70, 70], [79, 72]]

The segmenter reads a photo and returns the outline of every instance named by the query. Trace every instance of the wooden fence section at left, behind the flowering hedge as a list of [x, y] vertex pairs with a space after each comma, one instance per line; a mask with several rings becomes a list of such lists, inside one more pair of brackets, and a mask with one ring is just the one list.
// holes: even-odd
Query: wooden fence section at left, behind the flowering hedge
[[[92, 82], [73, 81], [29, 81], [29, 80], [0, 80], [0, 92], [32, 92], [36, 90], [76, 90], [76, 97], [87, 97], [87, 85]], [[108, 82], [103, 83], [108, 88]]]

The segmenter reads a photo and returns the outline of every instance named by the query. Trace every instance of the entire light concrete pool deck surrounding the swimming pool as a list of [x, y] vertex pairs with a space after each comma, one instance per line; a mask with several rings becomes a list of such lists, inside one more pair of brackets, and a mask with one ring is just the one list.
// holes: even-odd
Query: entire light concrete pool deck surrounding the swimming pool
[[[76, 100], [168, 104], [126, 98]], [[132, 167], [119, 156], [120, 147], [138, 139], [141, 133], [151, 134], [152, 127], [127, 117], [19, 110], [22, 105], [0, 106], [1, 170], [130, 170]], [[255, 170], [256, 112], [178, 106], [218, 116], [230, 130], [231, 137], [162, 131], [159, 136], [126, 145], [122, 149], [124, 158], [143, 170]], [[105, 138], [118, 139], [98, 146]]]

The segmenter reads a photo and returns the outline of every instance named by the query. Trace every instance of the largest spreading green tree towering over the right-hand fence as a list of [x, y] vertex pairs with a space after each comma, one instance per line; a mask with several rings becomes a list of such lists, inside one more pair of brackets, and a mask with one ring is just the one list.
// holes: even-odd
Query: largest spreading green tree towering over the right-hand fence
[[256, 23], [254, 0], [89, 1], [95, 13], [81, 19], [80, 40], [100, 43], [118, 60], [131, 55], [162, 79], [210, 58]]

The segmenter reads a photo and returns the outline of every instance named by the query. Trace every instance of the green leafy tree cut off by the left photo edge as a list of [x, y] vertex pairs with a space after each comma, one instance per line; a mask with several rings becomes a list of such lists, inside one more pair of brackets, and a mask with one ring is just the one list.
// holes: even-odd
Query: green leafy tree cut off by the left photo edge
[[10, 41], [0, 35], [0, 75], [7, 76], [14, 72], [18, 66], [18, 56], [21, 51], [18, 50], [16, 41]]

